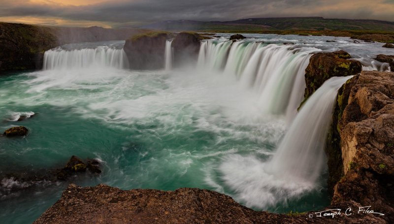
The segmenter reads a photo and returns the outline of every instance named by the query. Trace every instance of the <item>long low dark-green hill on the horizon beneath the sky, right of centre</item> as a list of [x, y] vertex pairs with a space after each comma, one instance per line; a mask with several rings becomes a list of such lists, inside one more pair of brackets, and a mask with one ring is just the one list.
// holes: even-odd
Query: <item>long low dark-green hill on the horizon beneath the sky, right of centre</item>
[[145, 29], [197, 32], [264, 31], [379, 31], [394, 32], [394, 22], [380, 20], [325, 19], [323, 17], [249, 18], [234, 21], [163, 21]]

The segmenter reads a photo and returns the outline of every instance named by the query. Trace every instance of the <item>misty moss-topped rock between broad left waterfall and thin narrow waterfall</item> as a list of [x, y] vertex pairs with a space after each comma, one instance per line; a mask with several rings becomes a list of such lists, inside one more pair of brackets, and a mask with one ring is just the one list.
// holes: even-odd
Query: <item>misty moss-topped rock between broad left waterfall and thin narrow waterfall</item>
[[131, 36], [124, 47], [130, 68], [163, 68], [165, 41], [173, 36], [171, 32], [148, 32]]

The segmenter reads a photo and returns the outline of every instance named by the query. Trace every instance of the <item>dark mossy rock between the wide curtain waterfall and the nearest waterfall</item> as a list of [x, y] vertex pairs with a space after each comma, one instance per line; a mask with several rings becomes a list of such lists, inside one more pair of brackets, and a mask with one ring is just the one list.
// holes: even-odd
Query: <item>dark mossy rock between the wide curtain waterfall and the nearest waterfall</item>
[[355, 75], [361, 72], [362, 65], [346, 51], [316, 53], [305, 69], [305, 98], [311, 96], [323, 83], [333, 76]]

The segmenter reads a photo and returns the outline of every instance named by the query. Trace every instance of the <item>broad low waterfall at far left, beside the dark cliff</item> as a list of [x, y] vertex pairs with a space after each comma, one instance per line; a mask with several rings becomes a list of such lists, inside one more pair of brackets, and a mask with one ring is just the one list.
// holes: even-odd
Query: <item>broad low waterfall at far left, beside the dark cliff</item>
[[74, 69], [87, 67], [129, 68], [129, 62], [123, 49], [99, 46], [94, 49], [64, 50], [60, 47], [44, 54], [45, 70]]

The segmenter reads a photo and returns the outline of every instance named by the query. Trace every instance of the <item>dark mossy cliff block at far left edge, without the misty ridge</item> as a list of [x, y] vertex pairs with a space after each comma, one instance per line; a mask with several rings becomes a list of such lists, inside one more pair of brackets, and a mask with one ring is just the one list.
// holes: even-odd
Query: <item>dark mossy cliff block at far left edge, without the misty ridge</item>
[[0, 74], [7, 70], [41, 69], [44, 52], [57, 45], [51, 28], [0, 22]]

